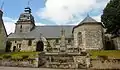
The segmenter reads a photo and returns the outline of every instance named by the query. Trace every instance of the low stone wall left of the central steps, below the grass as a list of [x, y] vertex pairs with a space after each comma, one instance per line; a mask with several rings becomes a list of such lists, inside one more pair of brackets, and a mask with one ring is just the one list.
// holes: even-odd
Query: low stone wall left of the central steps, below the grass
[[0, 66], [13, 67], [38, 67], [38, 58], [35, 59], [3, 59], [0, 60]]

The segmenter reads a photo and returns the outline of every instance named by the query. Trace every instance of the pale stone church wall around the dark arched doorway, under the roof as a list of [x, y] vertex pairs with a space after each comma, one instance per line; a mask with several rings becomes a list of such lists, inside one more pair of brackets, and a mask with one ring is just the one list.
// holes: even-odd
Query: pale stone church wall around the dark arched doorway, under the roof
[[[11, 45], [10, 50], [13, 51], [13, 47], [16, 46], [16, 51], [36, 51], [37, 43], [40, 40], [39, 39], [30, 39], [30, 40], [32, 41], [31, 45], [28, 45], [29, 39], [11, 40], [10, 42], [12, 43], [12, 45]], [[47, 46], [47, 41], [43, 38], [42, 42], [44, 43], [44, 50], [45, 50], [45, 47]]]

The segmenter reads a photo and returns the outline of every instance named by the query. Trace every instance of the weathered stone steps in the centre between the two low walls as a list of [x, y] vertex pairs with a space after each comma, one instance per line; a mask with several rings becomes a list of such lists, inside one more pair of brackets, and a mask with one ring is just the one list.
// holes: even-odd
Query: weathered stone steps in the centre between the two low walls
[[85, 56], [46, 55], [45, 67], [62, 69], [86, 69]]

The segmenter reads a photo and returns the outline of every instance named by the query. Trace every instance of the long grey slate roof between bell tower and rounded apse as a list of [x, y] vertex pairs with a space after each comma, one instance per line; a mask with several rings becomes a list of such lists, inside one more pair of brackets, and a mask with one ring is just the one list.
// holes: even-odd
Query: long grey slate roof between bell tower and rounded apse
[[65, 30], [66, 38], [71, 38], [73, 27], [74, 26], [35, 26], [31, 32], [12, 33], [8, 36], [8, 39], [40, 38], [40, 34], [46, 38], [60, 38], [62, 28]]

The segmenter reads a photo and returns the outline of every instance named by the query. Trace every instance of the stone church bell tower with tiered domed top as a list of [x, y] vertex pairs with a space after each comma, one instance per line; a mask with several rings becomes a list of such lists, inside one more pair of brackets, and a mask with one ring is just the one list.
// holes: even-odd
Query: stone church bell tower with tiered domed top
[[27, 33], [32, 31], [35, 27], [34, 17], [31, 14], [30, 7], [26, 7], [24, 13], [20, 14], [20, 17], [16, 23], [15, 33]]

